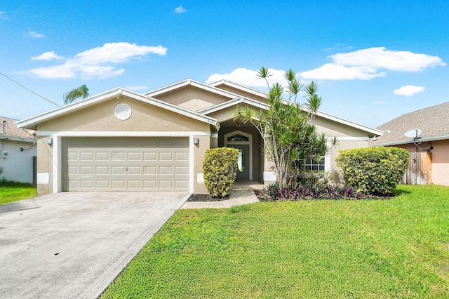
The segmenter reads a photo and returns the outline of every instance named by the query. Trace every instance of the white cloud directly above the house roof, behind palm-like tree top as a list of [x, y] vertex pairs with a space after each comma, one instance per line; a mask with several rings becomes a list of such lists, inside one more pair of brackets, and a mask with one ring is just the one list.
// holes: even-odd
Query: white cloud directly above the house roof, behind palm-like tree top
[[[268, 77], [270, 86], [276, 82], [279, 82], [283, 86], [286, 86], [286, 79], [284, 79], [285, 72], [278, 69], [269, 69], [272, 76]], [[212, 74], [206, 80], [206, 83], [212, 83], [221, 79], [238, 82], [243, 85], [253, 87], [267, 87], [267, 82], [264, 79], [257, 77], [257, 70], [246, 69], [244, 67], [234, 69], [229, 74]]]

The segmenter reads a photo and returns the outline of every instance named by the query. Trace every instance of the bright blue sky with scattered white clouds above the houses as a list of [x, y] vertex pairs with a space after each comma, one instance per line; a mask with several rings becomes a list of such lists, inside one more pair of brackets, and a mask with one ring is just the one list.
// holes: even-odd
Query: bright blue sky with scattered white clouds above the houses
[[[4, 1], [0, 72], [44, 98], [191, 78], [264, 89], [292, 68], [321, 111], [377, 127], [449, 95], [449, 1]], [[0, 116], [56, 107], [0, 76]]]

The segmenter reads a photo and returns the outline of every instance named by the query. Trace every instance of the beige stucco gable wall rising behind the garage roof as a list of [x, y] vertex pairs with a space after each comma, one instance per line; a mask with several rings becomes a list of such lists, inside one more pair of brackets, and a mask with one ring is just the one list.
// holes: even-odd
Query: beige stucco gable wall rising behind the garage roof
[[198, 111], [229, 100], [223, 95], [210, 93], [194, 86], [184, 86], [175, 91], [156, 95], [154, 98], [192, 111]]

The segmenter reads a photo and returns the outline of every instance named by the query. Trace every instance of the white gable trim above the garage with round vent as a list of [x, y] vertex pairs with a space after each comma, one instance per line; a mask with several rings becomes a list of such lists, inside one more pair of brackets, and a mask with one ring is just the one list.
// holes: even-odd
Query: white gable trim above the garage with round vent
[[212, 117], [207, 117], [206, 115], [199, 114], [199, 113], [190, 111], [189, 109], [178, 107], [176, 105], [171, 105], [167, 102], [163, 102], [163, 101], [157, 100], [155, 98], [150, 98], [148, 96], [141, 95], [140, 93], [128, 91], [127, 89], [121, 88], [121, 87], [114, 88], [110, 91], [105, 91], [104, 93], [99, 93], [98, 95], [93, 95], [89, 98], [79, 100], [77, 102], [72, 102], [69, 105], [58, 107], [58, 108], [52, 109], [48, 112], [43, 112], [41, 114], [37, 114], [34, 117], [29, 117], [28, 119], [18, 121], [17, 125], [21, 128], [36, 129], [37, 124], [39, 124], [41, 121], [47, 121], [47, 120], [53, 119], [55, 117], [60, 117], [64, 114], [73, 112], [74, 110], [89, 107], [91, 105], [97, 104], [98, 102], [110, 100], [111, 98], [114, 98], [114, 97], [119, 98], [121, 95], [125, 95], [125, 96], [127, 96], [129, 98], [133, 98], [135, 100], [140, 100], [149, 105], [154, 105], [156, 107], [168, 109], [171, 112], [182, 114], [182, 115], [184, 115], [186, 117], [190, 117], [192, 119], [206, 122], [207, 124], [216, 126], [217, 128], [220, 127], [217, 120], [213, 119]]

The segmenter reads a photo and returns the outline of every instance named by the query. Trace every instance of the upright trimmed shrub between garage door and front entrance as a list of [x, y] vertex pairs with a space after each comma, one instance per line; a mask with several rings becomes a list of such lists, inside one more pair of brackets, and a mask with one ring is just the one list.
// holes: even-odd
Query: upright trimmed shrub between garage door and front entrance
[[204, 185], [211, 197], [225, 197], [232, 190], [237, 175], [239, 150], [218, 147], [206, 152], [203, 161]]

